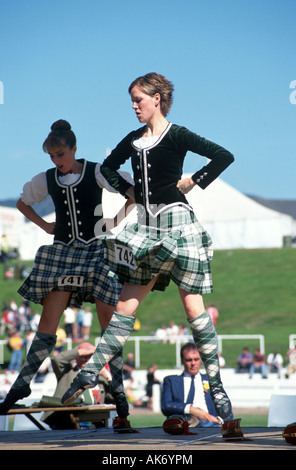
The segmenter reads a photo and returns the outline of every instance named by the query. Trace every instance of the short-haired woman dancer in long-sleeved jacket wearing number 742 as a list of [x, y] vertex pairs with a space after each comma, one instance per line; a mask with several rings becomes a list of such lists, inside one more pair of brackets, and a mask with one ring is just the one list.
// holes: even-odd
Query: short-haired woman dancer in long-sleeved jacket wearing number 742
[[[231, 403], [220, 378], [215, 327], [202, 297], [212, 292], [212, 242], [185, 194], [196, 184], [205, 189], [234, 158], [219, 145], [167, 121], [173, 85], [164, 76], [151, 73], [139, 77], [130, 85], [129, 93], [136, 116], [145, 125], [117, 145], [103, 162], [101, 173], [121, 194], [135, 199], [138, 222], [127, 224], [122, 232], [104, 240], [106, 262], [124, 283], [123, 290], [101, 342], [62, 402], [71, 403], [83, 384], [125, 344], [148, 292], [164, 290], [173, 280], [209, 378], [217, 413], [225, 418], [231, 412]], [[192, 177], [182, 179], [188, 151], [210, 162]], [[117, 172], [129, 158], [135, 182], [130, 188]]]

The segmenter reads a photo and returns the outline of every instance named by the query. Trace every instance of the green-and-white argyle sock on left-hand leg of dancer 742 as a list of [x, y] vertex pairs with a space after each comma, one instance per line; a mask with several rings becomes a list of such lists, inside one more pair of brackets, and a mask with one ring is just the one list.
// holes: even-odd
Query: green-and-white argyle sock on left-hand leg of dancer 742
[[[134, 316], [122, 315], [115, 311], [103, 336], [99, 339], [95, 352], [81, 369], [80, 374], [98, 374], [107, 362], [110, 363], [127, 342], [134, 323]], [[114, 359], [114, 365], [115, 361], [116, 359]]]

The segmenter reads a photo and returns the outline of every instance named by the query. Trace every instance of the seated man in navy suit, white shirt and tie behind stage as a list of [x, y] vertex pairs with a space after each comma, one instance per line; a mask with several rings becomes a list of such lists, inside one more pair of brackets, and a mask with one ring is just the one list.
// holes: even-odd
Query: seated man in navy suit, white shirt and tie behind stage
[[[184, 372], [164, 378], [161, 395], [161, 411], [169, 417], [182, 415], [189, 424], [199, 426], [219, 426], [206, 374], [199, 372], [201, 359], [194, 343], [186, 343], [181, 349]], [[194, 392], [192, 388], [194, 385]], [[232, 413], [226, 420], [232, 419]]]

